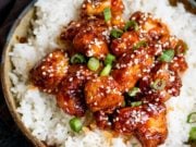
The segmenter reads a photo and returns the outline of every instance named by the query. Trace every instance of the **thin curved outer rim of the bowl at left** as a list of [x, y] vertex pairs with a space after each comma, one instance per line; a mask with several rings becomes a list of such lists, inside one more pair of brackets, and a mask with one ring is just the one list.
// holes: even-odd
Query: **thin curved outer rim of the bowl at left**
[[[13, 23], [13, 25], [11, 26], [9, 34], [7, 35], [7, 39], [5, 39], [5, 44], [3, 46], [3, 50], [2, 50], [2, 54], [1, 54], [1, 63], [0, 63], [0, 81], [1, 81], [1, 88], [2, 88], [2, 94], [5, 100], [5, 103], [9, 108], [9, 111], [12, 115], [12, 119], [14, 120], [14, 122], [16, 123], [16, 125], [19, 126], [19, 128], [22, 131], [22, 133], [25, 135], [25, 137], [33, 143], [34, 146], [37, 147], [46, 147], [46, 145], [37, 139], [35, 136], [33, 136], [33, 134], [30, 133], [30, 131], [24, 125], [24, 123], [22, 122], [20, 114], [15, 111], [14, 107], [12, 106], [11, 100], [14, 100], [14, 96], [11, 95], [12, 97], [10, 97], [11, 90], [10, 87], [7, 85], [7, 78], [10, 79], [9, 75], [8, 75], [8, 71], [5, 69], [7, 63], [5, 60], [10, 59], [9, 54], [8, 54], [8, 49], [10, 46], [10, 42], [12, 40], [12, 37], [17, 28], [17, 26], [20, 26], [23, 17], [35, 7], [35, 3], [37, 2], [37, 0], [33, 0], [22, 12], [21, 14], [16, 17], [15, 22]], [[5, 78], [7, 77], [7, 78]], [[10, 79], [11, 81], [11, 79]]]

